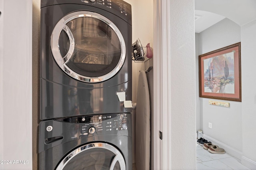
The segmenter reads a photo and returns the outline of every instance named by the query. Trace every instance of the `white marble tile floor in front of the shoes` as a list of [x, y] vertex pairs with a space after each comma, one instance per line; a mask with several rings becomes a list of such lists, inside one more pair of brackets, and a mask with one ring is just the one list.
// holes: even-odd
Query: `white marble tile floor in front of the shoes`
[[196, 144], [196, 170], [250, 170], [228, 153], [212, 154]]

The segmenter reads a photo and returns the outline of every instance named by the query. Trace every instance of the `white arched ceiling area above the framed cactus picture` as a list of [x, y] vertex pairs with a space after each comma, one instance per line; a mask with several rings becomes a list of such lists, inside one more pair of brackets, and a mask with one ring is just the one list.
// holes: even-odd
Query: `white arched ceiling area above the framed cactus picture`
[[243, 26], [256, 20], [256, 0], [195, 0], [195, 32], [228, 18]]

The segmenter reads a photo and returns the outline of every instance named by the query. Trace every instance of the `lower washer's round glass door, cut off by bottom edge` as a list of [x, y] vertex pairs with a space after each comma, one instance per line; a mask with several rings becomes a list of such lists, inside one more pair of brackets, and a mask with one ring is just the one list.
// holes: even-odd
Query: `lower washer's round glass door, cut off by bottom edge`
[[56, 170], [125, 170], [121, 152], [106, 143], [91, 143], [68, 154]]

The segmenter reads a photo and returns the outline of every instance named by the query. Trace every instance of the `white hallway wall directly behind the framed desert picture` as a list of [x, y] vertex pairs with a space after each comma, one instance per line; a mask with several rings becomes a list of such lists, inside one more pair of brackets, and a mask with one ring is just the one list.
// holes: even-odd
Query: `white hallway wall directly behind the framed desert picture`
[[[240, 42], [240, 37], [240, 26], [226, 18], [199, 34], [198, 55]], [[196, 59], [198, 61], [198, 56]], [[230, 103], [230, 108], [226, 108], [209, 105], [209, 100], [200, 98], [200, 120], [197, 117], [197, 121], [202, 123], [203, 134], [242, 152], [242, 103], [226, 101]], [[209, 122], [212, 129], [208, 128]]]

